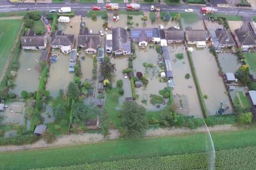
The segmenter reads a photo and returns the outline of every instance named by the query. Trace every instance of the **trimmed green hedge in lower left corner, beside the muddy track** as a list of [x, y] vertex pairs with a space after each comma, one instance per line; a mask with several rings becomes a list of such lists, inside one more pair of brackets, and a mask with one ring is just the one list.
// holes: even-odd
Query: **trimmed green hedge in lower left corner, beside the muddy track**
[[38, 141], [39, 137], [34, 134], [18, 135], [14, 137], [0, 137], [0, 145], [24, 145]]

